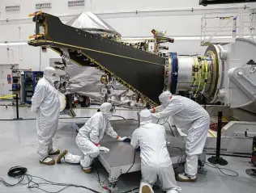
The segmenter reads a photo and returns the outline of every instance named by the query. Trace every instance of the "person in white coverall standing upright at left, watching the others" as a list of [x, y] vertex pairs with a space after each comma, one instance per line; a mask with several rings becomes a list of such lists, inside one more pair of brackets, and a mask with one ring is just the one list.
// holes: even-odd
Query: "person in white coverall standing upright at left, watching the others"
[[56, 71], [52, 67], [46, 67], [44, 77], [36, 85], [32, 96], [32, 111], [36, 112], [37, 141], [39, 147], [37, 153], [40, 163], [52, 166], [55, 164], [50, 155], [58, 155], [59, 149], [53, 149], [53, 136], [58, 128], [60, 103], [58, 91], [53, 82], [56, 80]]

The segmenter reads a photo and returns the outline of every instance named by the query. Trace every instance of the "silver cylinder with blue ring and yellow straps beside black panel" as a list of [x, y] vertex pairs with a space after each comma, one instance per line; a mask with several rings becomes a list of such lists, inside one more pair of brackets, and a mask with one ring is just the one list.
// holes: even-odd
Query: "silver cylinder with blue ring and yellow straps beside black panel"
[[203, 95], [207, 103], [213, 103], [220, 83], [220, 63], [220, 48], [216, 45], [209, 46], [202, 57], [178, 56], [172, 52], [165, 62], [165, 88], [173, 94], [189, 94], [194, 99]]

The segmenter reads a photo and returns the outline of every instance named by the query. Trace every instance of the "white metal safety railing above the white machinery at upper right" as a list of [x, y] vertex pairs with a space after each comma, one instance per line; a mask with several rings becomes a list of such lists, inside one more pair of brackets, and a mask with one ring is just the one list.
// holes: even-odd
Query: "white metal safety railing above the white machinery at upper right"
[[[237, 37], [254, 40], [256, 11], [229, 15], [203, 15], [201, 45], [233, 42]], [[254, 40], [255, 41], [255, 40]]]

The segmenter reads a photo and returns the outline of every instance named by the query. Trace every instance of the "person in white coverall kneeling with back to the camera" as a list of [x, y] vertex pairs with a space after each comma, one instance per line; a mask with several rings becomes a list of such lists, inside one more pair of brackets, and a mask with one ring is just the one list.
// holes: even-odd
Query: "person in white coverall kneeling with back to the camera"
[[137, 149], [140, 146], [142, 181], [139, 192], [153, 193], [152, 186], [159, 178], [163, 191], [181, 192], [177, 187], [173, 165], [166, 147], [165, 128], [152, 123], [151, 112], [143, 110], [140, 115], [140, 127], [132, 134], [130, 144]]

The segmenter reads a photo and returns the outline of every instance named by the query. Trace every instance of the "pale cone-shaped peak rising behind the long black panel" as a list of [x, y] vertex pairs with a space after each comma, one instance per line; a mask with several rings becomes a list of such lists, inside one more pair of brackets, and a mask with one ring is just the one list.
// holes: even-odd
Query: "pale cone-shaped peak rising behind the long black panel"
[[108, 23], [105, 23], [103, 19], [100, 19], [92, 12], [81, 13], [74, 19], [71, 19], [69, 22], [67, 22], [66, 25], [90, 32], [106, 31], [121, 37], [121, 34], [113, 29], [113, 27], [109, 26]]

